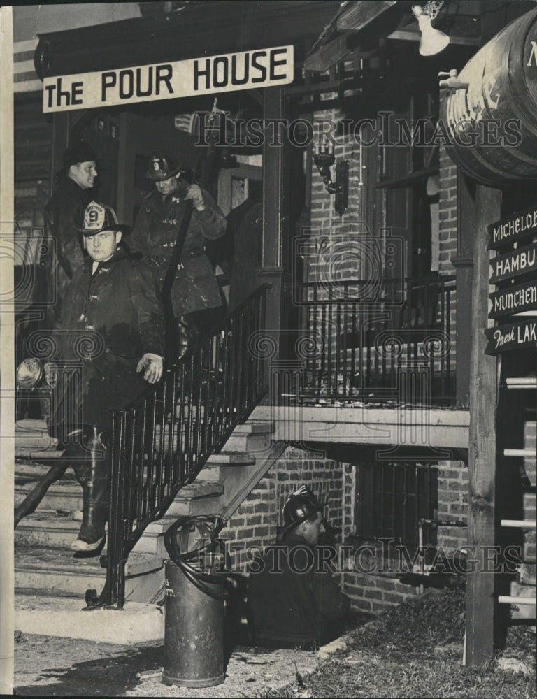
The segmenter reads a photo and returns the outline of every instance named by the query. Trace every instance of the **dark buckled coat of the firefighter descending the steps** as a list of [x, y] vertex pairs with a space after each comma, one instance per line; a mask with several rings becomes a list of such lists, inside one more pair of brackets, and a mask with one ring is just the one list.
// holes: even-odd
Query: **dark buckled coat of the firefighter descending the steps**
[[110, 410], [123, 408], [149, 384], [136, 366], [146, 352], [164, 354], [164, 310], [148, 268], [131, 259], [123, 247], [99, 263], [92, 260], [74, 275], [66, 291], [55, 337], [64, 361], [82, 361], [80, 400], [83, 414], [73, 415], [59, 401], [57, 419], [111, 425]]

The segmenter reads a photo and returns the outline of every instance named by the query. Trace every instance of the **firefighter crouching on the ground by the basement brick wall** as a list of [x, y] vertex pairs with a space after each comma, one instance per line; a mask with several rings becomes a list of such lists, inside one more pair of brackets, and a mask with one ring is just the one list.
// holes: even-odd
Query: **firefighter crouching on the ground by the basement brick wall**
[[258, 645], [312, 648], [338, 635], [350, 600], [318, 546], [323, 509], [313, 492], [301, 486], [283, 506], [278, 545], [252, 563], [248, 601]]

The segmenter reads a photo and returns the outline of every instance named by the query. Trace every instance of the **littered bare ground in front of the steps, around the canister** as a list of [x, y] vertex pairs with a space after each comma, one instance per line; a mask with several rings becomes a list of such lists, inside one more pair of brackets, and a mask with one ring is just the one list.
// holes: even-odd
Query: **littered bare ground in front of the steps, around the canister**
[[[294, 682], [297, 671], [306, 677], [317, 667], [317, 656], [313, 651], [236, 646], [227, 664], [224, 683], [204, 689], [162, 684], [159, 671], [163, 664], [162, 642], [133, 647], [22, 634], [15, 640], [14, 693], [71, 697], [258, 697]], [[156, 676], [151, 677], [152, 674]]]

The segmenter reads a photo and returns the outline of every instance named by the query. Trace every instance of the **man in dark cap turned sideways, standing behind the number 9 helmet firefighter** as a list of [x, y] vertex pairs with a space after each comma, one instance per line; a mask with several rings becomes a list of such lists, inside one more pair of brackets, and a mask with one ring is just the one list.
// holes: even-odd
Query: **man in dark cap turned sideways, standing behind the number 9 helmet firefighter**
[[57, 264], [52, 279], [56, 280], [58, 315], [69, 280], [86, 257], [76, 226], [94, 199], [96, 177], [96, 156], [91, 145], [83, 140], [72, 143], [64, 152], [57, 188], [45, 206], [45, 233], [55, 240]]

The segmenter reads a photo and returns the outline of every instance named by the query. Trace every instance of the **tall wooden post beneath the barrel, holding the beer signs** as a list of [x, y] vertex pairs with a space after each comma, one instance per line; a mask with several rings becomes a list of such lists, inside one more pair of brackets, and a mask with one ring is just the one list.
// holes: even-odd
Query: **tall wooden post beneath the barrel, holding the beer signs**
[[500, 218], [501, 192], [478, 185], [475, 195], [472, 346], [470, 355], [470, 433], [468, 459], [468, 545], [475, 572], [466, 577], [466, 665], [478, 666], [494, 651], [494, 574], [483, 570], [494, 531], [496, 477], [496, 357], [484, 354], [488, 318], [489, 251], [485, 226]]

